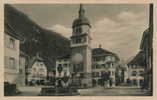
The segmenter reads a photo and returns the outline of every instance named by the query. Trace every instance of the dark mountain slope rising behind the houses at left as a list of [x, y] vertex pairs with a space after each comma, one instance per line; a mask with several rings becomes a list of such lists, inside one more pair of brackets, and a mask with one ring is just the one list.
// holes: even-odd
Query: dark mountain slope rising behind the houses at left
[[[32, 21], [27, 15], [6, 4], [4, 19], [24, 38], [20, 50], [33, 58], [40, 52], [43, 58], [53, 62], [57, 56], [70, 52], [70, 42], [59, 33], [44, 29]], [[53, 60], [53, 61], [52, 61]]]

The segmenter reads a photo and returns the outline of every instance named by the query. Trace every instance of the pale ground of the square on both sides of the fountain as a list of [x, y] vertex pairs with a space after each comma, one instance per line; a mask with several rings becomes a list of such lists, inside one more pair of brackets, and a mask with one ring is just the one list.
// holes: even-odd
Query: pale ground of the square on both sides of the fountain
[[[38, 96], [41, 87], [19, 87], [22, 92], [18, 96]], [[94, 87], [90, 89], [79, 89], [80, 96], [148, 96], [146, 91], [141, 91], [136, 87], [117, 86], [115, 88], [105, 89], [103, 87]]]

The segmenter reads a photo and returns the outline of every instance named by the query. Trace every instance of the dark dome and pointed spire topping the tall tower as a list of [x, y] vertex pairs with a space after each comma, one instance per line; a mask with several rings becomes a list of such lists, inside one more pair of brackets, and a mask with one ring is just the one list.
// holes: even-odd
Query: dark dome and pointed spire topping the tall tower
[[72, 27], [74, 28], [80, 25], [88, 25], [91, 27], [89, 20], [85, 17], [85, 10], [82, 4], [80, 4], [79, 16], [77, 19], [74, 20]]

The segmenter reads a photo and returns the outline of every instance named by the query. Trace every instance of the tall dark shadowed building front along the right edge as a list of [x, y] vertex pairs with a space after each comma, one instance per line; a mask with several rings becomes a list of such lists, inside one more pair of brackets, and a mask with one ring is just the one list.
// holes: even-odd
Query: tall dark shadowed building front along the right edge
[[144, 84], [145, 89], [149, 89], [152, 92], [153, 87], [153, 4], [149, 5], [149, 28], [143, 32], [140, 50], [144, 57]]

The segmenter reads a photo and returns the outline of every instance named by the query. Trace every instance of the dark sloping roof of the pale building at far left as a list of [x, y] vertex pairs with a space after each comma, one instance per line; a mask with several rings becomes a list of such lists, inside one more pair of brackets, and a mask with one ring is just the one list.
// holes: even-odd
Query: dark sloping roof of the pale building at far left
[[17, 34], [17, 32], [14, 30], [14, 28], [8, 23], [7, 20], [4, 21], [4, 33], [8, 34], [18, 40], [23, 40], [22, 36], [20, 36], [19, 34]]

